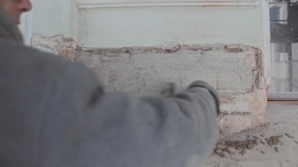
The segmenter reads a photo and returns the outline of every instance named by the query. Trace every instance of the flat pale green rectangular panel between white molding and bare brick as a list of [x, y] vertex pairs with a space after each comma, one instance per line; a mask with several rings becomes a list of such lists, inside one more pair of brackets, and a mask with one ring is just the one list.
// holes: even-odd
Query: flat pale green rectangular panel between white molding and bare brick
[[[241, 14], [239, 14], [241, 13]], [[85, 47], [156, 46], [163, 42], [241, 43], [263, 40], [258, 7], [126, 7], [79, 10]]]

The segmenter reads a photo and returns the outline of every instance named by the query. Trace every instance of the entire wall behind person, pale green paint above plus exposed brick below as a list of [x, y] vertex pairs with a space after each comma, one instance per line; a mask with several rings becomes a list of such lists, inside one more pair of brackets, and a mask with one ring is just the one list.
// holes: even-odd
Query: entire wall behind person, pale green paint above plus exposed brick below
[[[107, 89], [156, 94], [164, 82], [205, 80], [221, 92], [221, 133], [265, 123], [266, 0], [39, 0], [35, 7], [32, 44], [84, 62]], [[179, 44], [167, 50], [164, 42]]]

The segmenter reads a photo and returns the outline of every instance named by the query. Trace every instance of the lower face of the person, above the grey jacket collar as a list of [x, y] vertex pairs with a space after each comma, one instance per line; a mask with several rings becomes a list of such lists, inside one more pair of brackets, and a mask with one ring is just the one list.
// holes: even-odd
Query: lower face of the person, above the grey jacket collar
[[20, 23], [21, 14], [32, 8], [30, 0], [0, 0], [0, 5], [11, 15], [16, 24]]

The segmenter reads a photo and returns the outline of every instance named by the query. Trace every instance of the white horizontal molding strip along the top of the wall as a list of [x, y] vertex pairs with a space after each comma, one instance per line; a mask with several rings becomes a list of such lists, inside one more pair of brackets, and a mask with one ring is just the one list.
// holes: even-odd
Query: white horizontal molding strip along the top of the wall
[[159, 6], [257, 6], [258, 0], [77, 0], [79, 9]]

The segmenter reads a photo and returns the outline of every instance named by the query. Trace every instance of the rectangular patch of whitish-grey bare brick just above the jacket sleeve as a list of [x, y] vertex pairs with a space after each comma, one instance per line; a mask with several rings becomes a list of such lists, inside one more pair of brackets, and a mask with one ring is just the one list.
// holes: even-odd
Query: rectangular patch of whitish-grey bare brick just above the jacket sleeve
[[207, 51], [184, 47], [171, 54], [160, 50], [102, 53], [95, 49], [92, 53], [80, 51], [78, 57], [97, 71], [107, 89], [157, 93], [166, 82], [187, 85], [204, 80], [219, 90], [244, 92], [253, 83], [254, 48], [241, 47], [243, 51], [238, 53], [213, 45]]

